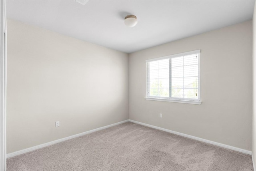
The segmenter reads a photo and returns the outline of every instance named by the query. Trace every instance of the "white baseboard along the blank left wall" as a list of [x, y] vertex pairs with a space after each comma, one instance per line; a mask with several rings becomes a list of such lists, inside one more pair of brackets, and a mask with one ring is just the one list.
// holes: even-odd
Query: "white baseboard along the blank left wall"
[[113, 124], [111, 124], [111, 125], [106, 125], [106, 126], [104, 126], [104, 127], [92, 129], [92, 130], [90, 130], [90, 131], [86, 131], [86, 132], [83, 132], [83, 133], [78, 133], [78, 134], [76, 134], [76, 135], [71, 135], [71, 136], [69, 136], [69, 137], [65, 137], [65, 138], [62, 138], [62, 139], [57, 139], [57, 140], [54, 140], [54, 141], [50, 141], [50, 142], [48, 142], [48, 143], [36, 145], [36, 146], [34, 146], [34, 147], [30, 147], [30, 148], [27, 148], [27, 149], [22, 149], [22, 150], [19, 150], [19, 151], [15, 151], [15, 152], [13, 152], [13, 153], [8, 153], [8, 154], [7, 154], [7, 158], [14, 157], [14, 156], [16, 156], [16, 155], [20, 155], [20, 154], [23, 154], [23, 153], [28, 153], [28, 152], [30, 152], [30, 151], [33, 151], [33, 150], [36, 150], [36, 149], [40, 149], [40, 148], [42, 148], [42, 147], [46, 147], [46, 146], [53, 145], [53, 144], [56, 144], [56, 143], [60, 143], [60, 142], [62, 142], [62, 141], [66, 141], [66, 140], [68, 140], [68, 139], [80, 137], [80, 136], [86, 135], [86, 134], [88, 134], [88, 133], [93, 133], [93, 132], [96, 132], [96, 131], [100, 131], [100, 130], [102, 130], [102, 129], [106, 129], [106, 128], [108, 128], [108, 127], [112, 127], [112, 126], [115, 126], [115, 125], [119, 125], [119, 124], [121, 124], [121, 123], [125, 123], [125, 122], [128, 122], [128, 121], [129, 121], [129, 119], [124, 120], [124, 121], [121, 121], [121, 122], [118, 122], [118, 123], [113, 123]]

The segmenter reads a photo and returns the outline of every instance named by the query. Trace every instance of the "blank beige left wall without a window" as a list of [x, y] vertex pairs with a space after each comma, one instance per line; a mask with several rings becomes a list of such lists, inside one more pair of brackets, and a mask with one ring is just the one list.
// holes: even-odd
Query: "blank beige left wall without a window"
[[127, 54], [14, 20], [7, 41], [7, 153], [128, 119]]

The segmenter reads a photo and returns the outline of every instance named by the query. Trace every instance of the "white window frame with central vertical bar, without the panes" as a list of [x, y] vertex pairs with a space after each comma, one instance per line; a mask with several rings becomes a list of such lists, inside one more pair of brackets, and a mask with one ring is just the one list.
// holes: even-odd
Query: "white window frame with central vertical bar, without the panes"
[[[201, 104], [202, 101], [200, 101], [200, 52], [201, 50], [193, 50], [190, 52], [184, 52], [180, 54], [174, 54], [174, 55], [168, 55], [168, 56], [163, 56], [159, 58], [153, 58], [146, 60], [146, 100], [156, 100], [156, 101], [170, 101], [170, 102], [177, 102], [177, 103], [190, 103], [190, 104]], [[198, 54], [198, 99], [192, 99], [192, 98], [181, 98], [181, 97], [170, 97], [170, 89], [171, 89], [171, 69], [170, 69], [170, 64], [169, 62], [169, 97], [159, 97], [159, 96], [150, 96], [149, 95], [149, 62], [153, 61], [158, 61], [158, 60], [165, 60], [165, 59], [172, 59], [172, 58], [177, 58], [177, 57], [182, 57], [182, 56], [188, 56], [188, 55], [193, 55], [193, 54]], [[183, 88], [184, 89], [184, 88]]]

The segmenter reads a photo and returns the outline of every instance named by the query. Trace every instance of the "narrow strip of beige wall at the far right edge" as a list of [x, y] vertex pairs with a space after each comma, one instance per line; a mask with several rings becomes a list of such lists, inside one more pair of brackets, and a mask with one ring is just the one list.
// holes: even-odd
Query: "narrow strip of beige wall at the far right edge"
[[253, 43], [252, 43], [252, 67], [253, 67], [253, 105], [252, 105], [252, 155], [254, 167], [256, 167], [256, 3], [253, 14]]

